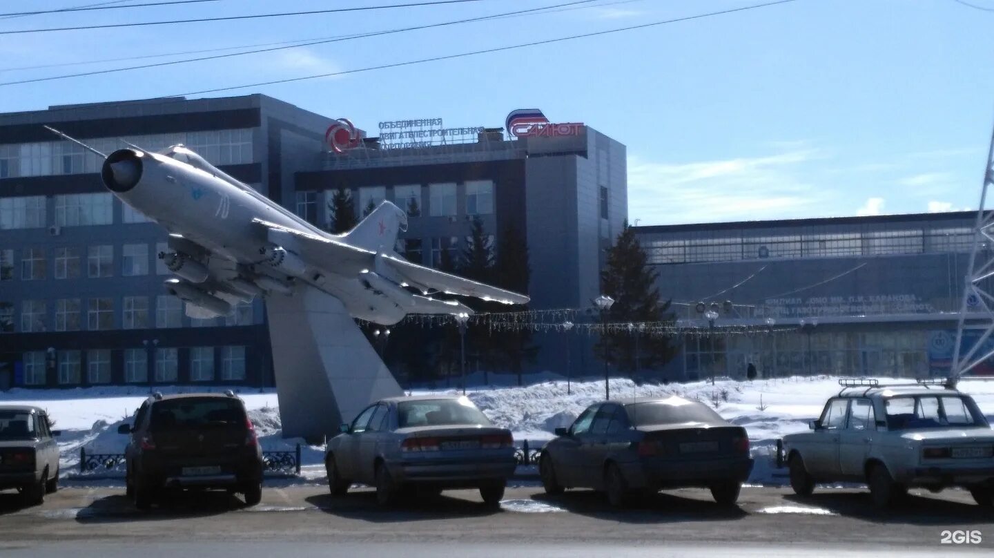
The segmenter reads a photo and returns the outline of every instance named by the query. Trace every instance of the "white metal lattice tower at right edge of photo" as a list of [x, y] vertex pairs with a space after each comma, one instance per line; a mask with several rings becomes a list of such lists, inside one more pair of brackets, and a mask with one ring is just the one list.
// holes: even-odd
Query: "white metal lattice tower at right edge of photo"
[[[994, 245], [994, 210], [988, 210], [987, 189], [994, 183], [994, 130], [991, 132], [991, 143], [987, 150], [987, 166], [984, 168], [984, 185], [980, 192], [980, 205], [977, 207], [977, 220], [973, 229], [973, 249], [970, 251], [970, 262], [966, 268], [963, 299], [959, 307], [959, 323], [956, 326], [956, 341], [953, 345], [952, 368], [949, 370], [949, 383], [956, 381], [972, 370], [976, 365], [994, 356], [994, 350], [984, 351], [987, 339], [994, 334], [994, 294], [989, 292], [994, 278], [994, 251], [985, 250]], [[988, 244], [990, 243], [990, 244]], [[971, 307], [975, 309], [971, 310]], [[971, 329], [981, 330], [977, 342], [960, 355], [963, 342], [963, 330], [966, 327], [966, 314], [970, 312]]]

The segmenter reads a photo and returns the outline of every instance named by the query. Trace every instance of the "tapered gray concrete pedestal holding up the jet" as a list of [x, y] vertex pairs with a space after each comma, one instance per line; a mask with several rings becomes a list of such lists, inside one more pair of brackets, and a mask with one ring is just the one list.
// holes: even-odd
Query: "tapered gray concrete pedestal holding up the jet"
[[331, 438], [370, 403], [403, 395], [342, 302], [309, 285], [265, 300], [286, 438]]

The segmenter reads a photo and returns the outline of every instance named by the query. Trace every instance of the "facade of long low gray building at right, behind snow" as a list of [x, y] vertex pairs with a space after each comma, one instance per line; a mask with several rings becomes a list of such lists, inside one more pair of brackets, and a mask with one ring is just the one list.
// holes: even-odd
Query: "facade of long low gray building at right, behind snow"
[[[681, 356], [666, 375], [743, 376], [750, 362], [767, 377], [946, 373], [975, 219], [964, 212], [637, 228], [661, 296], [683, 325], [698, 328], [676, 341]], [[713, 323], [704, 314], [711, 309]]]

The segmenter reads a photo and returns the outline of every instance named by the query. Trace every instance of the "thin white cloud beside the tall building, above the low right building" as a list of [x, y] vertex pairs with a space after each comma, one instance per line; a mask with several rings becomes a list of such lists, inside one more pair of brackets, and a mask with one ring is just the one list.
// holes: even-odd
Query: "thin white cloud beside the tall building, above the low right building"
[[813, 149], [693, 163], [628, 158], [629, 218], [647, 224], [782, 219], [817, 208], [824, 196], [800, 163]]

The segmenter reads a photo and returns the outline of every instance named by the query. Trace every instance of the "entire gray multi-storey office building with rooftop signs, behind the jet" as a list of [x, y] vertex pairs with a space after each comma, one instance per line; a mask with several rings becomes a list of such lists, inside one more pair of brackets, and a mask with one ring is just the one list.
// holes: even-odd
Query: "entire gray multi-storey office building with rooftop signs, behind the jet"
[[[473, 217], [494, 235], [514, 226], [529, 244], [533, 308], [596, 296], [602, 249], [626, 217], [625, 148], [581, 124], [515, 137], [415, 121], [336, 151], [335, 120], [260, 94], [0, 114], [0, 390], [273, 382], [263, 302], [186, 317], [162, 287], [164, 230], [105, 190], [98, 157], [43, 124], [106, 153], [122, 140], [186, 144], [323, 226], [332, 190], [349, 189], [359, 217], [392, 200], [409, 209], [400, 251], [425, 265], [461, 250]], [[535, 367], [559, 367], [559, 352]]]

